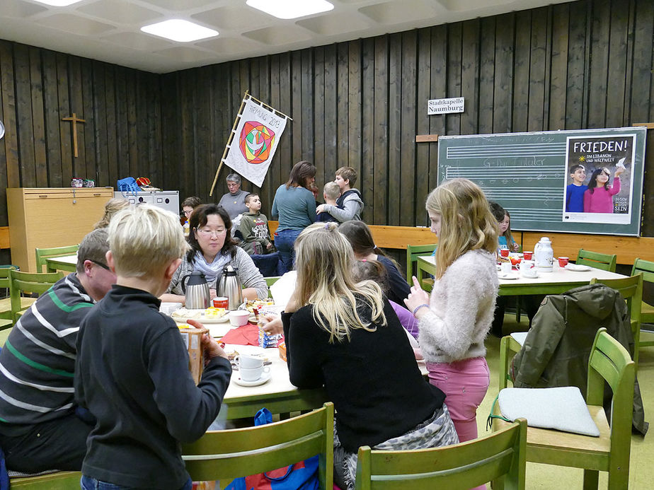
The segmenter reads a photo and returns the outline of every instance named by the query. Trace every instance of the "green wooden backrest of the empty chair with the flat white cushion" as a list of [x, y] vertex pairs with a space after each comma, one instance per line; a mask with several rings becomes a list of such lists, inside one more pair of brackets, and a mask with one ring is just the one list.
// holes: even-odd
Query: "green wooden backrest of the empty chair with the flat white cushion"
[[588, 360], [586, 403], [601, 406], [604, 400], [604, 381], [609, 384], [613, 392], [609, 424], [612, 455], [629, 455], [635, 377], [636, 363], [631, 360], [629, 352], [607, 333], [607, 329], [602, 327], [597, 330]]

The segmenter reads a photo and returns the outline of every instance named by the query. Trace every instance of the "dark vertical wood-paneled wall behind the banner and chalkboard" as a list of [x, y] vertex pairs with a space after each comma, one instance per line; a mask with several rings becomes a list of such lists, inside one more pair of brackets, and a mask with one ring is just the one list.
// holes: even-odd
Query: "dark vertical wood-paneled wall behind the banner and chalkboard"
[[[653, 38], [651, 0], [581, 0], [165, 75], [0, 42], [0, 119], [18, 127], [0, 141], [0, 183], [57, 186], [95, 175], [115, 185], [147, 175], [208, 200], [249, 90], [294, 119], [258, 189], [264, 212], [306, 159], [319, 187], [340, 166], [357, 170], [369, 223], [423, 225], [437, 144], [416, 144], [417, 134], [652, 122]], [[457, 96], [464, 113], [427, 115], [428, 99]], [[87, 121], [77, 159], [70, 123], [59, 120], [71, 112]], [[212, 200], [226, 192], [228, 172]], [[653, 171], [645, 185], [643, 234], [654, 236]]]

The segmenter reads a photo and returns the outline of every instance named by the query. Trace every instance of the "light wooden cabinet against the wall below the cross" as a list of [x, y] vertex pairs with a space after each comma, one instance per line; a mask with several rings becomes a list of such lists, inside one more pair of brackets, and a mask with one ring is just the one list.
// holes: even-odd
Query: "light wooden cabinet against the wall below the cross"
[[36, 272], [35, 248], [79, 243], [112, 197], [113, 187], [8, 188], [11, 263]]

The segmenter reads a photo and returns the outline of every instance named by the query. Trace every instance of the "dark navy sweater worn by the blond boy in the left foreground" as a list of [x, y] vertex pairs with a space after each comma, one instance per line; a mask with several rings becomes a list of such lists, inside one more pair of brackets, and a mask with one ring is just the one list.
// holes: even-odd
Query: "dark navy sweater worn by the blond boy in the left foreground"
[[113, 286], [81, 323], [75, 396], [97, 422], [82, 472], [137, 488], [181, 488], [188, 472], [180, 442], [216, 418], [231, 366], [213, 358], [197, 387], [175, 322], [146, 291]]

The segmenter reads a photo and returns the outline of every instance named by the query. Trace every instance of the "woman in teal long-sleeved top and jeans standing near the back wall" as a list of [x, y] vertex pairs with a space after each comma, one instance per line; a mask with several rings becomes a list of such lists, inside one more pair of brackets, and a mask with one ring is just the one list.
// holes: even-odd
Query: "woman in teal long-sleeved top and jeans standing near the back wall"
[[293, 244], [297, 235], [316, 221], [316, 199], [310, 190], [315, 181], [316, 167], [299, 161], [293, 165], [288, 182], [280, 185], [272, 200], [272, 218], [280, 221], [275, 232], [275, 247], [287, 271], [293, 269]]

